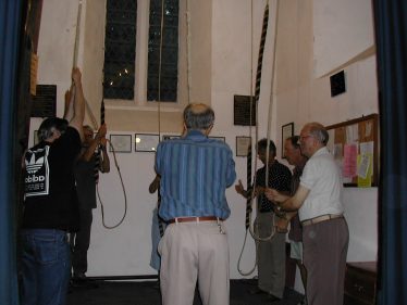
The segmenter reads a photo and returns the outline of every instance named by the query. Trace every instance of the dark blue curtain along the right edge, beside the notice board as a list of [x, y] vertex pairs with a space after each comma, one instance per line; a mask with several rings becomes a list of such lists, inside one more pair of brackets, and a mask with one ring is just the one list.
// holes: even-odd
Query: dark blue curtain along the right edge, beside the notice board
[[381, 178], [378, 304], [407, 304], [407, 1], [373, 0]]

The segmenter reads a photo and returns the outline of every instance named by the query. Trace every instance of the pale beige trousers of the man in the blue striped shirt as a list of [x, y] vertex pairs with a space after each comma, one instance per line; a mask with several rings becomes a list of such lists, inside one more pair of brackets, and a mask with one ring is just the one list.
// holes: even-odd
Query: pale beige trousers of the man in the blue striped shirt
[[222, 221], [178, 223], [159, 243], [162, 305], [193, 305], [196, 281], [203, 305], [229, 305], [229, 244]]

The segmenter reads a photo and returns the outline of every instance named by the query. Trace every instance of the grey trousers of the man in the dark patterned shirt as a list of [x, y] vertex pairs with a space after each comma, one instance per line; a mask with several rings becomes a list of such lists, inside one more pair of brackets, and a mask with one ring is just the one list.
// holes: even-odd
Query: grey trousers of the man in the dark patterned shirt
[[[255, 231], [260, 237], [270, 236], [273, 213], [259, 213]], [[285, 233], [275, 233], [268, 241], [259, 241], [257, 249], [258, 287], [262, 291], [283, 297], [285, 287]]]

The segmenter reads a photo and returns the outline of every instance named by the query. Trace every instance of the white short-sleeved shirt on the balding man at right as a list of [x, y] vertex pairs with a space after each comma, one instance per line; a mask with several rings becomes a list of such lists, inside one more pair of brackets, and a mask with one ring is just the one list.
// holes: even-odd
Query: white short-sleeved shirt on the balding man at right
[[326, 148], [321, 148], [308, 160], [300, 185], [310, 190], [298, 211], [301, 221], [344, 213], [340, 168]]

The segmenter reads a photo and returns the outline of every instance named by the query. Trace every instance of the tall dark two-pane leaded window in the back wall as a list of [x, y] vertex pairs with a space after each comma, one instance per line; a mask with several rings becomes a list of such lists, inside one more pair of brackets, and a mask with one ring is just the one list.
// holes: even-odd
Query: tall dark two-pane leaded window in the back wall
[[176, 101], [178, 0], [150, 0], [149, 10], [148, 41], [141, 41], [136, 37], [137, 1], [107, 0], [103, 67], [106, 99], [134, 100], [135, 81], [145, 73], [135, 75], [136, 43], [141, 43], [146, 50], [148, 48], [147, 101]]

